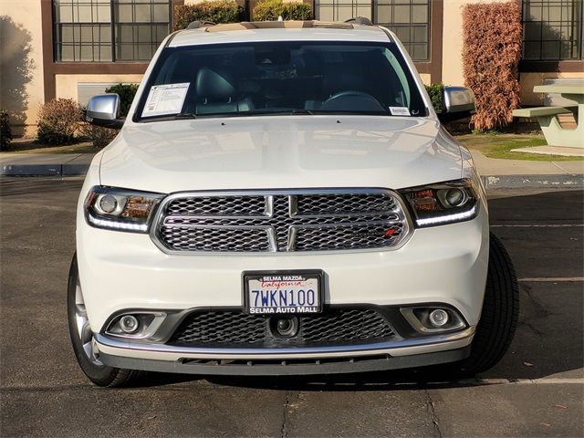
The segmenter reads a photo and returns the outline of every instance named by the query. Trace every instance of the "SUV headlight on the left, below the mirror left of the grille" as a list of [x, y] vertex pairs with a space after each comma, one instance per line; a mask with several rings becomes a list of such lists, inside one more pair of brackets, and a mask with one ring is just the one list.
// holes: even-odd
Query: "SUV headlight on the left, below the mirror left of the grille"
[[147, 233], [151, 214], [163, 195], [95, 186], [85, 199], [85, 217], [97, 228]]

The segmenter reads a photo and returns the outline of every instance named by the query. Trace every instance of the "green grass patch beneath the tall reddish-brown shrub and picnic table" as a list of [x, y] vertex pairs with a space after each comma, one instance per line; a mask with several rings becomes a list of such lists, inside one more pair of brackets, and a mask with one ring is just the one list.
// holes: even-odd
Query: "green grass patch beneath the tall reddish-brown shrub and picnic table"
[[546, 146], [543, 135], [533, 134], [464, 134], [455, 136], [456, 140], [468, 149], [480, 151], [488, 158], [505, 160], [529, 160], [533, 162], [574, 162], [584, 157], [565, 157], [562, 155], [540, 155], [537, 153], [512, 152], [512, 149], [532, 146]]

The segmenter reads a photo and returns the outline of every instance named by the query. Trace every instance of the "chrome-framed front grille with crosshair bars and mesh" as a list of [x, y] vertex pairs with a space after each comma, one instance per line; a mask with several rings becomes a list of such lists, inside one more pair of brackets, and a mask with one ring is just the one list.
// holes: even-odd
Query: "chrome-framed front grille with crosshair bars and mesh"
[[167, 252], [292, 252], [400, 246], [411, 228], [381, 189], [175, 193], [152, 225]]

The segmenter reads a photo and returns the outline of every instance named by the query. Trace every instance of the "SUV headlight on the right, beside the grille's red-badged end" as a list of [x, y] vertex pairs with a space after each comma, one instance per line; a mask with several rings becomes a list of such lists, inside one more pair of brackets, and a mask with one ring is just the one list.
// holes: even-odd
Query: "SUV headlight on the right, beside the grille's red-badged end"
[[400, 190], [412, 207], [418, 227], [453, 224], [476, 217], [478, 187], [471, 179]]

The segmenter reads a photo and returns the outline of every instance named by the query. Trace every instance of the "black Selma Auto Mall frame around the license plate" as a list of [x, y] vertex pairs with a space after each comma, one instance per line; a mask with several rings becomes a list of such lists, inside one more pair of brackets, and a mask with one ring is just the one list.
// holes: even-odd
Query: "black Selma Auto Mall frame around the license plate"
[[[298, 279], [301, 278], [301, 279]], [[253, 290], [250, 289], [250, 281], [260, 281], [262, 279], [268, 279], [270, 286], [275, 287], [276, 290], [280, 290], [281, 287], [294, 287], [300, 290], [297, 286], [298, 282], [308, 283], [308, 287], [316, 279], [316, 289], [314, 290], [315, 305], [309, 306], [307, 303], [305, 305], [300, 305], [297, 300], [293, 299], [292, 305], [282, 306], [282, 307], [272, 307], [272, 306], [256, 306], [256, 297], [252, 293]], [[321, 269], [298, 269], [298, 270], [277, 270], [277, 271], [244, 271], [242, 273], [242, 292], [243, 292], [243, 309], [244, 313], [248, 315], [310, 315], [318, 314], [322, 312], [324, 304], [324, 272]], [[308, 280], [308, 281], [307, 281]], [[310, 281], [312, 280], [312, 281]], [[282, 285], [284, 283], [284, 285]], [[293, 284], [291, 284], [293, 283]], [[280, 287], [276, 286], [282, 285]], [[255, 289], [257, 290], [257, 289]], [[261, 292], [261, 290], [260, 290]], [[307, 291], [307, 298], [308, 298]], [[293, 294], [294, 296], [294, 294]], [[296, 295], [299, 297], [298, 295]], [[261, 299], [261, 297], [259, 297]], [[278, 302], [280, 300], [278, 294]], [[268, 297], [269, 299], [269, 297]]]

